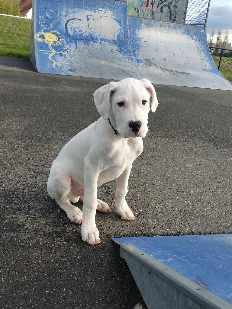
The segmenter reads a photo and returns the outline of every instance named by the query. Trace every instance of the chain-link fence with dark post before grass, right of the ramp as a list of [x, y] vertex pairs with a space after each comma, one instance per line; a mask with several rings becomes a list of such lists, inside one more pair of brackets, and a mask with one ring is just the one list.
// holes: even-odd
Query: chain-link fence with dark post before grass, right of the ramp
[[209, 49], [218, 70], [232, 73], [232, 50], [214, 46]]

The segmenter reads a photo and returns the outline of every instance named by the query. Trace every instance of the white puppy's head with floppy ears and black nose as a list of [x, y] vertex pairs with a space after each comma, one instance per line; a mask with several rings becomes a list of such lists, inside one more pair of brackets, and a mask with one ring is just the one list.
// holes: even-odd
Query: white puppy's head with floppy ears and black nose
[[109, 118], [123, 138], [144, 137], [147, 134], [151, 96], [151, 110], [155, 112], [158, 106], [156, 92], [152, 83], [145, 78], [110, 82], [93, 94], [99, 114], [105, 120]]

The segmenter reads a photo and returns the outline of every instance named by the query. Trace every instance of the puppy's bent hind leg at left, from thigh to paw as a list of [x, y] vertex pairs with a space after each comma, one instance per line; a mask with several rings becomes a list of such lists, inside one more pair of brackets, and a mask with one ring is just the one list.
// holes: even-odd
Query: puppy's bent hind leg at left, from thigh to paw
[[56, 200], [60, 208], [66, 212], [71, 222], [78, 224], [82, 222], [82, 211], [72, 205], [68, 198], [71, 191], [71, 178], [64, 167], [60, 165], [51, 167], [47, 190], [50, 197]]

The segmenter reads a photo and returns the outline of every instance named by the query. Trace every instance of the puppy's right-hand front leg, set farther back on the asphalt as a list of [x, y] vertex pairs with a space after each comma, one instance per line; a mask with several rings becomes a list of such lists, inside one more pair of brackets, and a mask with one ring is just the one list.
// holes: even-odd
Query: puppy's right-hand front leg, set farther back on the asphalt
[[115, 208], [122, 220], [134, 220], [135, 216], [126, 202], [127, 185], [130, 176], [132, 164], [129, 165], [123, 173], [117, 178], [116, 202]]

